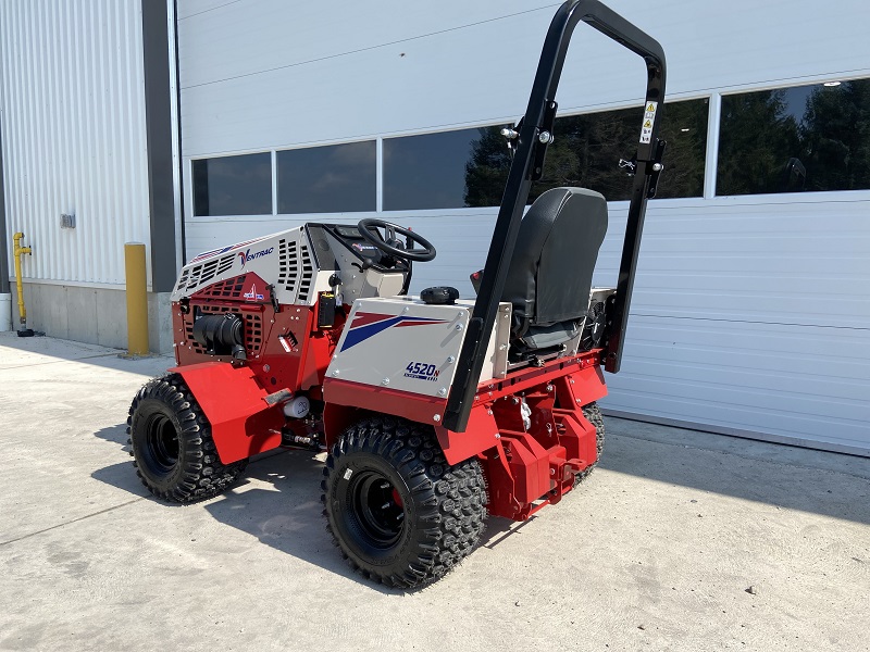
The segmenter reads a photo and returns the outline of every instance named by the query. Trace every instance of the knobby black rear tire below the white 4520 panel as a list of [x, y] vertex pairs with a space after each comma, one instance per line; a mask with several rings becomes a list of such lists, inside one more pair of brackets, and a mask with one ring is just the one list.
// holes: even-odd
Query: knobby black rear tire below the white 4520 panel
[[417, 588], [476, 548], [486, 488], [476, 460], [450, 466], [431, 427], [391, 416], [350, 426], [323, 471], [326, 528], [351, 567]]

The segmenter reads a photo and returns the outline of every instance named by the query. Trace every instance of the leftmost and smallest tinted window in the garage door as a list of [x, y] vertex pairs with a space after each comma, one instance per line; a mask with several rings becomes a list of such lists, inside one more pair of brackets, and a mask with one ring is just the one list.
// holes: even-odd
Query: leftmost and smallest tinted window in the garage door
[[194, 161], [194, 214], [271, 215], [272, 154]]

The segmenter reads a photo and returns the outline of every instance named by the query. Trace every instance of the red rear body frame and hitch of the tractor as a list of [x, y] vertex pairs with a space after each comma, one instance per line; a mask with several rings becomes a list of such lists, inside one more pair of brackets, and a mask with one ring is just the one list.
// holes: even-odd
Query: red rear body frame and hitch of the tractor
[[326, 378], [326, 442], [334, 442], [360, 411], [432, 424], [449, 464], [480, 460], [489, 486], [489, 513], [523, 521], [561, 500], [575, 474], [597, 460], [595, 426], [582, 408], [607, 394], [600, 354], [596, 349], [480, 385], [464, 432], [438, 425], [444, 399]]

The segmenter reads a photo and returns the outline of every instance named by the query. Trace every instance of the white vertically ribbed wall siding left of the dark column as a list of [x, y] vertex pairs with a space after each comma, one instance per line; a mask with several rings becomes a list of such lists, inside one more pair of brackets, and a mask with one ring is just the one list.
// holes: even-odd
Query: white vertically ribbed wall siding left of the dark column
[[123, 284], [124, 242], [149, 241], [140, 1], [4, 0], [0, 47], [10, 247], [21, 230], [34, 248], [23, 276]]

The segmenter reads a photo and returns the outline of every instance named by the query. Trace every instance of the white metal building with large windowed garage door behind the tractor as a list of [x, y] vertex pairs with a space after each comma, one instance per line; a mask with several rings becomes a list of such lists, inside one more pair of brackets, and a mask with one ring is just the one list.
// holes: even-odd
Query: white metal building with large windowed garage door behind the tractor
[[[166, 350], [182, 259], [307, 220], [412, 226], [438, 249], [412, 291], [470, 296], [496, 201], [472, 197], [469, 147], [522, 114], [558, 4], [5, 0], [0, 249], [11, 265], [16, 230], [35, 248], [34, 326], [124, 346], [122, 246], [140, 240]], [[870, 455], [870, 5], [609, 4], [668, 54], [663, 187], [681, 180], [650, 202], [602, 406]], [[581, 25], [562, 124], [621, 124], [644, 85]], [[596, 284], [613, 285], [627, 202], [605, 193]]]

